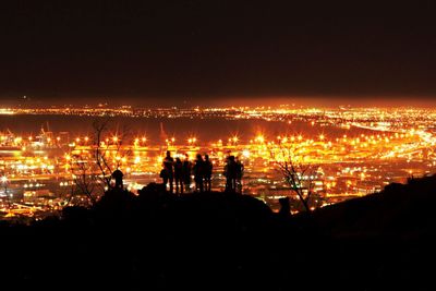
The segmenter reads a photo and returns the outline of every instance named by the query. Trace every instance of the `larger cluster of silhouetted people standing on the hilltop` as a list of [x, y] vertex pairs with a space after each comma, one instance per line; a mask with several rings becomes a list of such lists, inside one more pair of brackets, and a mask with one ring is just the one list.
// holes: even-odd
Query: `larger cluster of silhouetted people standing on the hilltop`
[[160, 171], [160, 178], [165, 185], [170, 184], [170, 193], [183, 194], [183, 191], [189, 192], [191, 189], [191, 175], [194, 174], [195, 191], [205, 192], [211, 190], [211, 172], [213, 163], [209, 160], [209, 156], [197, 154], [194, 162], [191, 162], [189, 155], [185, 154], [185, 158], [182, 161], [180, 158], [174, 159], [171, 157], [171, 153], [168, 150], [167, 156], [162, 162], [164, 167]]

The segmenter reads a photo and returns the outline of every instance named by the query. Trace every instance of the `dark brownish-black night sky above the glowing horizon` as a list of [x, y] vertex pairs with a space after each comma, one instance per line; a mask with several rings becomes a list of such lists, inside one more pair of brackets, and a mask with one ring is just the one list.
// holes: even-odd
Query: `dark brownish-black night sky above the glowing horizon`
[[429, 99], [434, 2], [2, 1], [0, 97]]

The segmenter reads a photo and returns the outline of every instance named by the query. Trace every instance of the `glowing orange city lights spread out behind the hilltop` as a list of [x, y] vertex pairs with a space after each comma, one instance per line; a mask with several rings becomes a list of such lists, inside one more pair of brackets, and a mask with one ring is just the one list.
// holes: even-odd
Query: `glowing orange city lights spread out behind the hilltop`
[[[104, 148], [110, 161], [125, 173], [124, 184], [129, 190], [135, 193], [150, 182], [161, 182], [158, 173], [166, 150], [182, 159], [187, 154], [191, 160], [197, 153], [208, 154], [214, 163], [213, 189], [223, 190], [225, 160], [234, 155], [244, 165], [242, 192], [266, 202], [276, 210], [280, 197], [290, 196], [296, 201], [277, 167], [288, 158], [282, 155], [283, 149], [292, 151], [294, 160], [318, 166], [314, 177], [316, 207], [375, 193], [389, 183], [405, 182], [411, 177], [433, 173], [436, 166], [436, 110], [425, 108], [324, 109], [283, 105], [278, 108], [142, 109], [130, 106], [102, 108], [100, 105], [96, 108], [4, 108], [0, 114], [3, 119], [13, 118], [14, 122], [28, 116], [40, 116], [41, 121], [50, 116], [59, 120], [76, 116], [85, 118], [83, 122], [87, 125], [96, 118], [158, 120], [161, 126], [158, 136], [134, 134], [142, 130], [137, 125], [129, 134], [107, 132], [100, 142], [99, 148]], [[186, 119], [193, 122], [218, 120], [223, 124], [234, 120], [261, 121], [272, 123], [275, 130], [268, 128], [267, 131], [261, 124], [253, 134], [230, 131], [219, 138], [208, 134], [208, 129], [198, 135], [165, 132], [162, 123], [166, 120]], [[121, 124], [116, 125], [119, 129]], [[3, 187], [0, 194], [3, 218], [45, 216], [86, 199], [75, 195], [81, 192], [77, 185], [81, 173], [76, 166], [95, 163], [93, 155], [97, 144], [93, 130], [87, 135], [68, 128], [53, 132], [46, 129], [45, 123], [39, 132], [27, 132], [26, 135], [2, 130], [0, 170]], [[82, 163], [77, 163], [78, 159]], [[87, 171], [87, 174], [101, 174], [92, 168]], [[98, 198], [104, 191], [105, 186], [100, 184], [93, 190], [93, 195]], [[298, 210], [295, 204], [293, 211]]]

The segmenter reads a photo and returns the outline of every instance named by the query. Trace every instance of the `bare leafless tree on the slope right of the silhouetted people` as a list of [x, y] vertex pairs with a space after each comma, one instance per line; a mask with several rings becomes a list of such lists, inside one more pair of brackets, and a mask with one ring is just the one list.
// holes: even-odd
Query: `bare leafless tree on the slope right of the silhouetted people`
[[271, 150], [271, 156], [286, 183], [296, 194], [304, 209], [310, 213], [319, 166], [305, 160], [295, 147], [280, 146], [278, 150]]

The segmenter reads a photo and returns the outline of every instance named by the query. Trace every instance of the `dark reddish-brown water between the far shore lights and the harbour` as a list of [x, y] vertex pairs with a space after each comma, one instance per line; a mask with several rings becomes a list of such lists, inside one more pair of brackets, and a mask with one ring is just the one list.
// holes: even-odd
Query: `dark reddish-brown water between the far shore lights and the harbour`
[[[27, 136], [37, 134], [41, 126], [55, 133], [70, 132], [75, 135], [92, 135], [93, 122], [102, 120], [95, 117], [75, 116], [0, 116], [0, 131], [11, 130], [15, 134]], [[263, 133], [267, 138], [276, 138], [282, 134], [302, 134], [316, 138], [320, 133], [329, 137], [336, 137], [349, 133], [348, 130], [311, 125], [307, 122], [294, 121], [291, 124], [279, 121], [264, 120], [225, 120], [225, 119], [157, 119], [157, 118], [129, 118], [116, 117], [110, 119], [113, 130], [128, 128], [133, 135], [146, 135], [152, 143], [158, 143], [160, 138], [160, 123], [168, 137], [174, 136], [178, 141], [185, 141], [190, 136], [196, 136], [198, 142], [226, 141], [232, 135], [238, 135], [242, 142], [254, 138]], [[353, 130], [353, 135], [367, 132]]]

